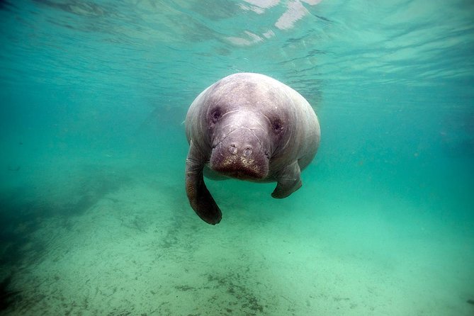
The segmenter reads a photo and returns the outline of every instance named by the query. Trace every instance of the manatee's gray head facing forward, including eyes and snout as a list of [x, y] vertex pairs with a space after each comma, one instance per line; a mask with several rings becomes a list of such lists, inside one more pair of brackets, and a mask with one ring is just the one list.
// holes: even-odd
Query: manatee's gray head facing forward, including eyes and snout
[[258, 81], [235, 78], [210, 87], [205, 115], [210, 169], [250, 181], [268, 176], [272, 157], [290, 134], [288, 106], [278, 94]]

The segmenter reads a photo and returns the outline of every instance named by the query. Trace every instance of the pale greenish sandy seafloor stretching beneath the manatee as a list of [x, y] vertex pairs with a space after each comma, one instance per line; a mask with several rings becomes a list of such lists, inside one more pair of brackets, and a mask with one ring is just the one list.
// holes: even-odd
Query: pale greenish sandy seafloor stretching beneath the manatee
[[126, 165], [68, 158], [11, 191], [24, 224], [1, 266], [6, 315], [473, 315], [469, 225], [390, 195], [356, 204], [347, 183], [303, 176], [284, 200], [208, 181], [224, 216], [211, 226], [179, 168]]

